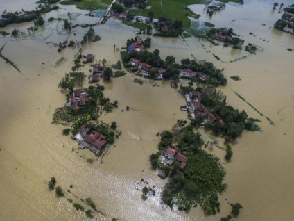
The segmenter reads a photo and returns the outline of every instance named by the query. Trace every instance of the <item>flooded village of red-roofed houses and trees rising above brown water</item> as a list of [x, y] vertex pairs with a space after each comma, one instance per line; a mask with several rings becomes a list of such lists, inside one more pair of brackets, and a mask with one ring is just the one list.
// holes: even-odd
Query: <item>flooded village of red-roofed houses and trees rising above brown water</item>
[[[62, 2], [44, 1], [44, 4], [40, 3], [33, 11], [23, 10], [22, 13], [14, 14], [5, 12], [2, 15], [3, 19], [0, 19], [0, 26], [35, 21], [35, 26], [28, 28], [28, 32], [33, 33], [44, 25], [42, 14], [58, 9], [55, 4], [62, 5]], [[237, 2], [243, 3], [243, 1]], [[83, 1], [63, 3], [64, 5], [76, 4], [83, 7]], [[91, 8], [90, 13], [87, 14], [89, 17], [95, 17], [95, 13], [105, 14], [96, 24], [85, 26], [89, 30], [83, 35], [83, 40], [65, 40], [60, 44], [53, 45], [57, 48], [58, 53], [67, 50], [67, 48], [75, 49], [77, 53], [74, 55], [71, 70], [64, 75], [58, 85], [60, 91], [65, 95], [66, 101], [64, 106], [55, 109], [51, 124], [64, 126], [62, 134], [64, 136], [70, 135], [81, 151], [85, 152], [89, 149], [93, 152], [97, 157], [95, 159], [102, 166], [105, 152], [110, 146], [118, 144], [119, 137], [125, 133], [125, 131], [119, 130], [119, 125], [116, 122], [106, 124], [101, 120], [102, 115], [118, 111], [117, 109], [121, 107], [119, 97], [115, 101], [105, 97], [104, 92], [107, 90], [105, 83], [114, 81], [115, 87], [114, 79], [124, 76], [132, 76], [134, 85], [148, 83], [157, 87], [159, 81], [168, 82], [168, 87], [171, 90], [177, 90], [178, 95], [182, 97], [183, 104], [178, 107], [178, 111], [187, 112], [187, 120], [178, 119], [171, 129], [158, 131], [157, 134], [154, 134], [159, 138], [158, 151], [146, 156], [149, 157], [150, 168], [158, 175], [158, 179], [164, 179], [166, 182], [162, 193], [160, 193], [160, 199], [165, 205], [170, 208], [178, 208], [179, 211], [188, 212], [191, 208], [198, 206], [202, 208], [205, 215], [216, 215], [220, 213], [218, 196], [230, 187], [225, 183], [226, 172], [222, 161], [208, 151], [209, 142], [212, 141], [205, 140], [202, 134], [207, 133], [223, 142], [218, 147], [225, 153], [224, 161], [230, 163], [236, 139], [242, 136], [243, 131], [261, 131], [258, 125], [261, 120], [252, 118], [245, 111], [239, 111], [228, 104], [227, 97], [218, 89], [219, 86], [225, 87], [227, 85], [227, 78], [223, 74], [224, 69], [218, 69], [207, 60], [198, 60], [193, 54], [191, 54], [191, 58], [179, 59], [172, 54], [162, 58], [159, 49], [153, 47], [153, 38], [181, 36], [185, 41], [185, 38], [193, 36], [200, 41], [211, 42], [214, 47], [222, 45], [240, 51], [245, 50], [252, 56], [259, 53], [261, 47], [251, 43], [245, 45], [246, 41], [242, 39], [243, 36], [234, 33], [233, 28], [214, 28], [214, 24], [207, 23], [204, 34], [195, 29], [189, 32], [189, 28], [185, 26], [187, 16], [196, 19], [200, 15], [193, 13], [188, 6], [184, 7], [184, 20], [159, 16], [155, 6], [153, 6], [154, 10], [143, 13], [144, 16], [134, 13], [138, 9], [146, 10], [146, 7], [149, 6], [148, 1], [136, 0], [112, 1], [107, 4], [107, 8], [103, 8], [104, 10]], [[277, 5], [274, 4], [274, 7]], [[279, 9], [281, 12], [282, 7], [281, 5]], [[273, 24], [273, 27], [292, 34], [292, 30], [294, 30], [293, 8], [294, 5], [287, 6], [282, 19]], [[225, 10], [225, 3], [207, 1], [205, 7], [207, 15], [215, 16], [220, 10]], [[70, 13], [68, 17], [69, 19], [63, 20], [52, 17], [49, 19], [51, 22], [54, 20], [62, 22], [62, 30], [71, 35], [71, 31], [75, 27], [70, 22]], [[119, 52], [120, 56], [116, 64], [107, 63], [106, 59], [97, 59], [96, 56], [100, 51], [90, 51], [91, 54], [84, 54], [83, 51], [83, 46], [86, 44], [93, 44], [95, 41], [101, 40], [97, 30], [99, 26], [107, 24], [107, 20], [110, 18], [117, 19], [119, 22], [139, 30], [134, 33], [134, 38], [124, 40], [126, 42], [124, 47], [119, 48], [114, 44], [113, 51], [114, 53]], [[81, 25], [77, 24], [76, 27], [78, 26]], [[2, 32], [3, 34], [5, 33]], [[12, 35], [14, 38], [27, 36], [26, 33], [16, 29]], [[250, 35], [254, 35], [254, 33], [250, 33]], [[1, 54], [4, 46], [0, 50], [1, 58], [20, 72], [15, 63]], [[153, 50], [151, 51], [150, 48]], [[291, 50], [288, 49], [288, 51]], [[212, 55], [216, 60], [220, 60], [216, 54]], [[176, 60], [180, 60], [180, 63], [176, 63]], [[60, 60], [61, 62], [62, 60]], [[83, 69], [87, 69], [86, 74]], [[231, 78], [234, 81], [241, 80], [239, 76]], [[150, 80], [153, 82], [152, 84], [149, 83]], [[236, 95], [238, 94], [236, 93]], [[241, 95], [238, 96], [245, 101]], [[274, 124], [270, 118], [263, 116], [248, 101], [245, 102], [261, 117], [265, 117], [270, 124]], [[131, 104], [128, 105], [131, 106]], [[130, 113], [131, 109], [129, 106], [123, 106], [121, 112], [129, 111], [128, 113]], [[93, 162], [91, 161], [91, 163]], [[51, 178], [49, 189], [55, 188], [55, 182], [55, 179]], [[154, 188], [149, 187], [148, 183], [143, 183], [147, 186], [141, 190], [141, 199], [146, 201], [148, 197], [153, 197], [157, 192]], [[55, 190], [57, 191], [57, 188]], [[58, 191], [61, 191], [56, 192], [58, 197], [63, 197], [64, 194], [60, 186]], [[71, 190], [68, 190], [68, 193], [73, 194]], [[72, 200], [71, 203], [73, 203]], [[94, 203], [90, 199], [84, 203], [94, 209], [94, 211], [85, 211], [87, 217], [94, 218], [95, 213], [99, 212], [95, 206], [92, 206]], [[80, 204], [73, 204], [76, 210], [84, 211]], [[222, 221], [237, 218], [243, 208], [239, 202], [231, 202], [230, 206], [232, 211], [221, 218]]]

